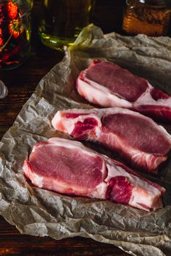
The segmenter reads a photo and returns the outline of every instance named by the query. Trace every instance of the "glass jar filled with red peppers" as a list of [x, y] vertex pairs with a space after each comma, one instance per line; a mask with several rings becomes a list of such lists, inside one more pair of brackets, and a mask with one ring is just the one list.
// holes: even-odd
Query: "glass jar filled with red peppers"
[[0, 70], [18, 67], [28, 58], [32, 0], [0, 0]]

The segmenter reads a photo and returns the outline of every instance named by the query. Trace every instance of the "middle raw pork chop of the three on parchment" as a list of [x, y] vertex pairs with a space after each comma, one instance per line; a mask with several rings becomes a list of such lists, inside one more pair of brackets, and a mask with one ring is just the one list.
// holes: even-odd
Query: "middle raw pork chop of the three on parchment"
[[151, 118], [124, 108], [70, 109], [56, 113], [53, 127], [76, 140], [99, 142], [132, 167], [157, 172], [167, 159], [171, 136]]

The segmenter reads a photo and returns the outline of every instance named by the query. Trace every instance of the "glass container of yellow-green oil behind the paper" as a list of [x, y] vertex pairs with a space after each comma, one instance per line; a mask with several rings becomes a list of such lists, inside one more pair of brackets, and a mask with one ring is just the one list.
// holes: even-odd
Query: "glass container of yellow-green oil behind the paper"
[[57, 50], [72, 45], [90, 23], [91, 7], [91, 0], [43, 0], [39, 21], [42, 43]]

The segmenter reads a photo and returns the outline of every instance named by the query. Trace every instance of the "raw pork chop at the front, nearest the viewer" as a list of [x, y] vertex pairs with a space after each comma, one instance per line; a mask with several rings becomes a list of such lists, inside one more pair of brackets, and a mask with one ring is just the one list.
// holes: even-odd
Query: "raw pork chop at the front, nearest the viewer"
[[164, 188], [77, 141], [50, 138], [37, 143], [23, 170], [40, 188], [109, 199], [146, 211], [162, 207]]

